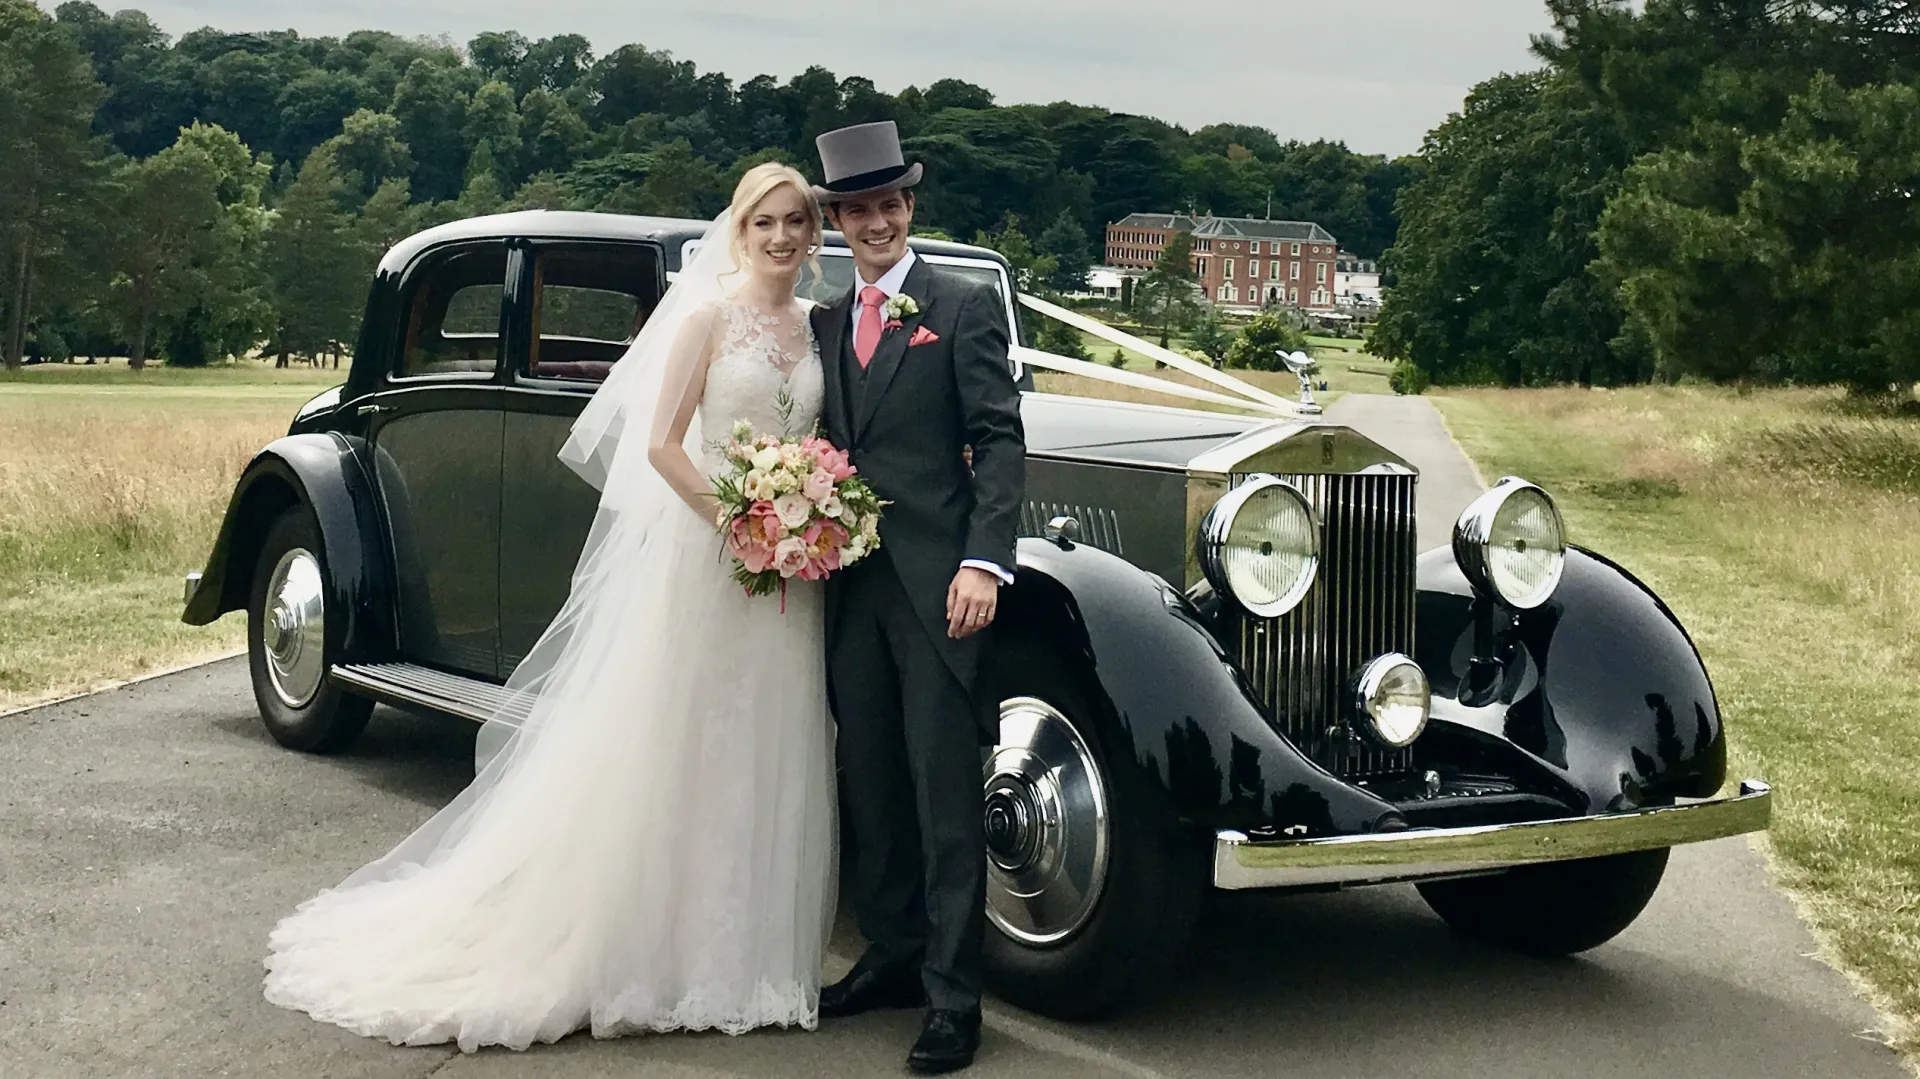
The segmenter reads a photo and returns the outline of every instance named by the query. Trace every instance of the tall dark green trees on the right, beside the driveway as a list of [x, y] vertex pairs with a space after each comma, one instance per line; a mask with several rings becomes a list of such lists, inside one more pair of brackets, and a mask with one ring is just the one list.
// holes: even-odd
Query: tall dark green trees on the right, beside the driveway
[[1920, 6], [1548, 0], [1400, 194], [1375, 351], [1434, 382], [1920, 380]]

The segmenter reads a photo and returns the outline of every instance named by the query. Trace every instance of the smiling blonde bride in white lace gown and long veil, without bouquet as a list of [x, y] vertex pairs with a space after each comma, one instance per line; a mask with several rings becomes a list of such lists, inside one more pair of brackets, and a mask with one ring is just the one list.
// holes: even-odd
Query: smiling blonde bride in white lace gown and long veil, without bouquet
[[[833, 906], [822, 593], [793, 580], [781, 609], [732, 582], [699, 432], [812, 430], [820, 357], [793, 290], [820, 238], [797, 171], [741, 179], [561, 451], [601, 503], [572, 595], [507, 683], [526, 720], [488, 724], [505, 745], [467, 791], [273, 929], [267, 1000], [468, 1052], [814, 1029]], [[636, 409], [651, 438], [622, 438]]]

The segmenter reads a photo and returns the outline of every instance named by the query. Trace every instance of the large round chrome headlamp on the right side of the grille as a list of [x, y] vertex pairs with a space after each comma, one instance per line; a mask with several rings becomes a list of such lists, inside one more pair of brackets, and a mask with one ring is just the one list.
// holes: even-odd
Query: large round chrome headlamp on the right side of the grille
[[1567, 564], [1567, 526], [1538, 486], [1503, 476], [1453, 524], [1453, 561], [1482, 595], [1515, 611], [1546, 603]]

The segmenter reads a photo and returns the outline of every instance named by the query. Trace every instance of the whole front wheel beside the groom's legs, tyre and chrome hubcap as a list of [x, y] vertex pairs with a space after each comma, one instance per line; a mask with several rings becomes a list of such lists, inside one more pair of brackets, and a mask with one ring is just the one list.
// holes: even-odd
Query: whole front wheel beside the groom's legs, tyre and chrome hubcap
[[996, 649], [1000, 739], [985, 764], [987, 981], [1060, 1019], [1164, 983], [1206, 887], [1204, 854], [1154, 791], [1110, 762], [1069, 666]]

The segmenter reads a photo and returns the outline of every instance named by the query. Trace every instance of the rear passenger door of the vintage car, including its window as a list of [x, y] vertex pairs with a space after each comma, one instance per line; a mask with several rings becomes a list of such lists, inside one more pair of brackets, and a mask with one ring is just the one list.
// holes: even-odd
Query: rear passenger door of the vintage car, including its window
[[428, 250], [401, 280], [392, 369], [359, 401], [409, 662], [499, 678], [507, 242]]

